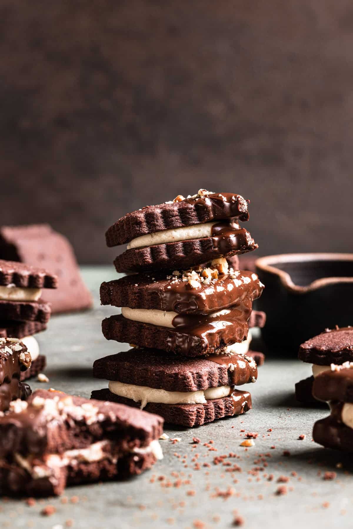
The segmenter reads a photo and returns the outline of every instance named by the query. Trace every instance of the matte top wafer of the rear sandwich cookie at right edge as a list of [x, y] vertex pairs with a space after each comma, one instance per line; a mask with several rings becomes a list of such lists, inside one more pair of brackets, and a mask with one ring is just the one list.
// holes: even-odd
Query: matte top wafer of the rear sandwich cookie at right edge
[[314, 336], [302, 343], [298, 358], [319, 366], [353, 361], [353, 327], [328, 329]]

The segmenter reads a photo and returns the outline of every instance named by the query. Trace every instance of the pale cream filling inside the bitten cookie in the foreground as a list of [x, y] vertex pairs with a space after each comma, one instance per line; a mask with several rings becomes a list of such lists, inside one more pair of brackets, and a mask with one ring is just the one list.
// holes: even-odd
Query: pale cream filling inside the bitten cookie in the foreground
[[[102, 461], [103, 459], [110, 459], [113, 463], [116, 463], [119, 458], [104, 450], [105, 448], [109, 449], [110, 444], [110, 441], [107, 440], [98, 441], [87, 448], [67, 450], [62, 455], [48, 454], [45, 456], [42, 464], [33, 465], [31, 458], [24, 458], [19, 453], [14, 453], [14, 459], [20, 467], [24, 468], [32, 476], [33, 479], [41, 479], [52, 476], [56, 468], [66, 467], [68, 464], [76, 465], [80, 462], [93, 463], [95, 461]], [[151, 441], [151, 443], [144, 448], [135, 447], [128, 453], [152, 453], [156, 459], [163, 459], [163, 452], [157, 439]], [[125, 453], [121, 455], [123, 456]]]

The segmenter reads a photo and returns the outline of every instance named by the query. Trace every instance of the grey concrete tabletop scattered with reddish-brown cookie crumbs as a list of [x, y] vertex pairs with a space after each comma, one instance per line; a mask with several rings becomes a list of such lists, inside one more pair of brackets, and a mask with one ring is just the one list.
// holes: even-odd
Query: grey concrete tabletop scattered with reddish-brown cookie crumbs
[[[113, 267], [84, 268], [83, 275], [95, 296], [95, 309], [52, 318], [48, 330], [38, 336], [48, 357], [50, 381], [33, 381], [32, 389], [54, 387], [88, 397], [92, 389], [104, 386], [104, 381], [91, 378], [94, 359], [126, 348], [107, 342], [100, 330], [102, 318], [115, 311], [98, 302], [101, 281], [116, 277]], [[70, 523], [75, 529], [231, 527], [235, 510], [245, 529], [351, 527], [350, 458], [311, 441], [313, 423], [326, 416], [327, 409], [306, 409], [293, 398], [295, 382], [309, 376], [309, 371], [298, 360], [267, 359], [257, 383], [250, 386], [253, 409], [245, 416], [193, 430], [166, 427], [166, 433], [180, 441], [161, 441], [164, 459], [130, 481], [68, 488], [64, 498], [40, 500], [32, 507], [24, 500], [2, 500], [0, 527], [60, 529]], [[240, 446], [241, 430], [258, 432], [255, 446], [248, 450]], [[297, 440], [299, 434], [305, 434], [305, 440]], [[194, 436], [201, 440], [197, 448], [192, 445]], [[210, 440], [213, 444], [203, 445]], [[290, 451], [289, 457], [284, 457], [284, 450]], [[215, 456], [230, 452], [238, 458], [224, 461], [236, 463], [241, 471], [229, 472], [232, 467], [213, 463]], [[199, 470], [194, 468], [197, 462]], [[337, 478], [324, 480], [328, 470], [336, 471]], [[268, 480], [269, 475], [273, 480]], [[289, 478], [283, 484], [287, 494], [282, 496], [276, 495], [282, 485], [277, 483], [279, 476]], [[41, 515], [46, 505], [55, 506], [56, 513]]]

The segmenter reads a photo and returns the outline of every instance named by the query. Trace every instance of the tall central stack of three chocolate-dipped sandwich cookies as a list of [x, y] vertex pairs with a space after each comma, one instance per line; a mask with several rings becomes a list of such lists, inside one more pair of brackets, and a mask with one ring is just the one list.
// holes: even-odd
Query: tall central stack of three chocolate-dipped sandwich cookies
[[227, 262], [257, 248], [239, 224], [248, 218], [240, 195], [200, 189], [129, 213], [108, 229], [109, 247], [128, 243], [114, 263], [129, 275], [101, 285], [102, 304], [121, 307], [102, 330], [107, 340], [134, 348], [95, 361], [93, 376], [109, 384], [92, 398], [183, 426], [251, 408], [250, 393], [236, 386], [257, 379], [247, 337], [249, 321], [264, 324], [263, 313], [252, 313], [263, 285]]

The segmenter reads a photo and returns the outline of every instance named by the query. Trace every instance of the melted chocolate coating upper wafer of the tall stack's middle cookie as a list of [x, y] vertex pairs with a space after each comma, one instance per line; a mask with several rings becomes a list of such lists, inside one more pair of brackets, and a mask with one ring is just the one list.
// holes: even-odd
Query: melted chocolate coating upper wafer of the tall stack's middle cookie
[[254, 301], [260, 297], [264, 287], [260, 286], [256, 274], [240, 270], [239, 275], [234, 277], [221, 274], [208, 285], [201, 283], [198, 289], [192, 289], [186, 281], [176, 278], [158, 280], [155, 284], [151, 280], [148, 288], [158, 291], [162, 311], [209, 314], [237, 305], [245, 297]]

